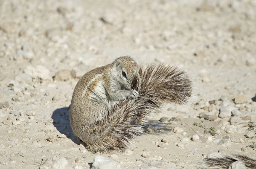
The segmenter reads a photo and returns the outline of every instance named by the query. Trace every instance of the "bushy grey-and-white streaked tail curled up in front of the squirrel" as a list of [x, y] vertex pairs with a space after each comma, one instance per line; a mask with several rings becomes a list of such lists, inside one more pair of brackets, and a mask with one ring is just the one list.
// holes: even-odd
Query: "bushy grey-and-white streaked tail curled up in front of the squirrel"
[[[186, 103], [192, 96], [192, 81], [174, 66], [151, 64], [141, 67], [131, 78], [139, 92], [135, 100], [110, 103], [99, 120], [87, 131], [87, 148], [94, 152], [122, 150], [131, 139], [145, 131], [147, 117], [164, 103]], [[99, 135], [98, 135], [99, 134]]]

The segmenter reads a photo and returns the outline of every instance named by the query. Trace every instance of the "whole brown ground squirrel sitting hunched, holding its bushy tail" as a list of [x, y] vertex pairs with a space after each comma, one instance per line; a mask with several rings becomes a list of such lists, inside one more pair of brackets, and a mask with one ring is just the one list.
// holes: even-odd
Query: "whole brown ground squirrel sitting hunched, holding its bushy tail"
[[122, 150], [145, 131], [164, 103], [186, 103], [192, 81], [175, 66], [139, 66], [131, 57], [93, 69], [77, 83], [70, 104], [73, 133], [93, 152]]

